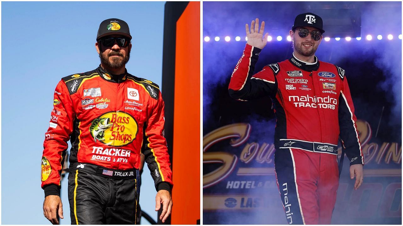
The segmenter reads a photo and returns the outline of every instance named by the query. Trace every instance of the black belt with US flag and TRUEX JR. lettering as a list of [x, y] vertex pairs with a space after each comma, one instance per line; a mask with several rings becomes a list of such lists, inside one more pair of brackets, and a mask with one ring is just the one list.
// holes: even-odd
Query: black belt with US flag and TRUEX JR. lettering
[[75, 171], [77, 169], [112, 179], [136, 179], [136, 175], [139, 173], [139, 170], [136, 168], [128, 170], [118, 170], [96, 166], [88, 163], [75, 162], [73, 164], [70, 164], [69, 171]]

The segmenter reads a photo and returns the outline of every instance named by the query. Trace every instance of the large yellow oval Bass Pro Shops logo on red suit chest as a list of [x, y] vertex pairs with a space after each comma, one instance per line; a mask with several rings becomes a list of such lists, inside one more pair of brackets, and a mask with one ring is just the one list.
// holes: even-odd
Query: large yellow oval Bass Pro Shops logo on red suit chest
[[139, 127], [133, 116], [124, 111], [110, 111], [94, 119], [89, 132], [94, 141], [121, 147], [133, 142]]

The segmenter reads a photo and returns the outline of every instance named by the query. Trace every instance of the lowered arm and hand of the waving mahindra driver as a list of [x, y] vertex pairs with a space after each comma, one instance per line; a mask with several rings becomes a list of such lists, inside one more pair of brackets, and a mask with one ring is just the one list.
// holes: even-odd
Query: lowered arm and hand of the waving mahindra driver
[[362, 166], [364, 165], [364, 156], [361, 150], [361, 144], [358, 139], [357, 117], [354, 114], [353, 100], [351, 99], [347, 78], [344, 76], [344, 70], [339, 70], [339, 76], [342, 78], [342, 86], [339, 97], [339, 127], [340, 138], [345, 152], [350, 161], [350, 178], [355, 176], [354, 189], [357, 190], [364, 181]]

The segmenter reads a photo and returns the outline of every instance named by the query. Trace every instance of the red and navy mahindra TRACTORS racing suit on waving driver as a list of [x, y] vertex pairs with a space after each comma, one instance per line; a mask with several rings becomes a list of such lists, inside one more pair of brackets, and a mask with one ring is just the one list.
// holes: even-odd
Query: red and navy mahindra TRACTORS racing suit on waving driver
[[229, 84], [234, 99], [270, 96], [276, 115], [274, 163], [289, 223], [330, 224], [339, 183], [339, 137], [352, 164], [364, 164], [345, 71], [293, 57], [253, 74], [261, 49], [246, 45]]

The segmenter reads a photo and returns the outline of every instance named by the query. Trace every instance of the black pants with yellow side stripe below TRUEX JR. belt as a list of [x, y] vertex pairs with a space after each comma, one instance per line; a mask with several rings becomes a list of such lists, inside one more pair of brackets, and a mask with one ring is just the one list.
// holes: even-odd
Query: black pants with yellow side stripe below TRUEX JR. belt
[[116, 179], [102, 175], [98, 166], [79, 166], [71, 164], [69, 173], [71, 224], [136, 224], [138, 170], [134, 177]]

